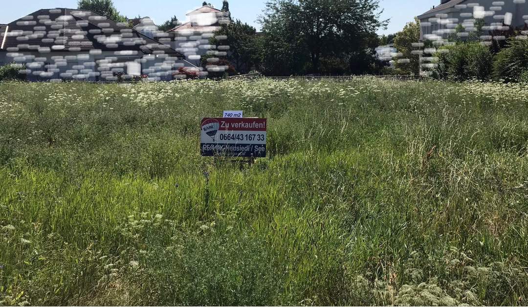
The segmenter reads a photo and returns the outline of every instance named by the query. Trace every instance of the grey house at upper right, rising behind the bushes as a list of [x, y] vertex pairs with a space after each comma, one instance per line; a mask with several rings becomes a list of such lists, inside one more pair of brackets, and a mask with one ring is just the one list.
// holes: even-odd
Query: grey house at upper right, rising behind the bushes
[[483, 30], [523, 28], [528, 23], [526, 0], [440, 0], [440, 5], [418, 16], [421, 24], [420, 40], [446, 39], [460, 24], [464, 37], [475, 30], [475, 20], [483, 19]]

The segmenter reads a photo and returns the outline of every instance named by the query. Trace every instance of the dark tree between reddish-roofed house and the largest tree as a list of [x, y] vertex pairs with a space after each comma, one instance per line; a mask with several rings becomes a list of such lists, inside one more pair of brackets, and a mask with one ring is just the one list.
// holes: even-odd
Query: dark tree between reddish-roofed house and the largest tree
[[211, 44], [229, 46], [227, 60], [233, 64], [235, 70], [246, 73], [259, 61], [256, 33], [254, 27], [237, 20], [222, 25], [215, 33], [216, 36], [227, 36], [226, 40], [219, 42], [213, 38]]

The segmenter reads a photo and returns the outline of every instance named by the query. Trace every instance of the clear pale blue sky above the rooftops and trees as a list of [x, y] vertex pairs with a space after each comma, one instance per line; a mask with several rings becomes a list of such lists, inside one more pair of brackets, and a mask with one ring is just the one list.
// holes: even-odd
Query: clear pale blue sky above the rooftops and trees
[[[77, 0], [0, 0], [0, 23], [9, 23], [41, 8], [69, 7], [76, 8]], [[163, 23], [176, 15], [180, 20], [185, 14], [202, 5], [202, 0], [114, 0], [121, 14], [135, 17], [138, 14], [153, 18], [156, 23]], [[215, 7], [222, 7], [222, 0], [208, 0]], [[400, 31], [403, 26], [419, 15], [438, 5], [440, 0], [380, 0], [384, 9], [382, 17], [391, 18], [387, 30], [380, 30], [380, 34]], [[265, 0], [230, 0], [230, 11], [233, 18], [252, 24], [259, 29], [258, 16], [265, 8]]]

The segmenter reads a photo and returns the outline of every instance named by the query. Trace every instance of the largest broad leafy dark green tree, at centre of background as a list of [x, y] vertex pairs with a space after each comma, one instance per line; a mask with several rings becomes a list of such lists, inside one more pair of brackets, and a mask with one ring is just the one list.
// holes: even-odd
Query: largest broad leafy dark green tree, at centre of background
[[[378, 0], [270, 0], [261, 18], [269, 42], [287, 57], [308, 57], [310, 70], [319, 73], [322, 57], [360, 52], [380, 21]], [[300, 54], [304, 53], [304, 54]]]

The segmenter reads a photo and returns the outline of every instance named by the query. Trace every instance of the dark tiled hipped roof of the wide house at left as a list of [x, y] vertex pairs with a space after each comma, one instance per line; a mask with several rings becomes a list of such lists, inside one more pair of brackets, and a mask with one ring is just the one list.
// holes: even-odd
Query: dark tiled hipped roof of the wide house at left
[[4, 49], [12, 52], [137, 51], [183, 57], [167, 45], [92, 11], [42, 9], [8, 26]]

